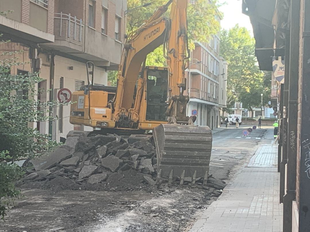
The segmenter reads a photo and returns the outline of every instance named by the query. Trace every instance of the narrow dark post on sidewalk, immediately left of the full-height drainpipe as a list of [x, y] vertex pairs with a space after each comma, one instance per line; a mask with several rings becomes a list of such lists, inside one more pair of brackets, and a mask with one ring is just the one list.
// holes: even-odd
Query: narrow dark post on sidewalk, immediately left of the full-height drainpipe
[[283, 90], [283, 122], [282, 122], [282, 161], [280, 164], [280, 203], [283, 203], [285, 195], [285, 166], [287, 163], [287, 108], [289, 94], [289, 73], [290, 73], [290, 33], [286, 33], [285, 42], [285, 73]]

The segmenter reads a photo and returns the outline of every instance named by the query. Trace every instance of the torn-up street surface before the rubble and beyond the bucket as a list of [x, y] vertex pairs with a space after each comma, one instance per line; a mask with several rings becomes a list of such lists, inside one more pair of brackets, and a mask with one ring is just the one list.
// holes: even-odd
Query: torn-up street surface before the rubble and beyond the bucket
[[[235, 134], [232, 134], [231, 131]], [[265, 131], [257, 131], [262, 137]], [[229, 130], [214, 136], [210, 173], [226, 182], [249, 158], [257, 140], [235, 138]], [[256, 132], [255, 132], [256, 133]], [[253, 136], [254, 137], [254, 136]], [[65, 177], [48, 183], [27, 181], [18, 186], [24, 197], [16, 200], [1, 232], [166, 232], [188, 231], [220, 190], [173, 183], [149, 186], [142, 173], [113, 173], [100, 184], [78, 184]]]

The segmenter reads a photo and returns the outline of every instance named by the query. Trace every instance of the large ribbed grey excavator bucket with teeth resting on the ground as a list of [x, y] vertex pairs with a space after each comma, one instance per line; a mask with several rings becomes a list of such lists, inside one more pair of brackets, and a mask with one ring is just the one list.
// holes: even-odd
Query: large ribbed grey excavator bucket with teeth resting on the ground
[[[157, 153], [157, 182], [177, 177], [180, 184], [191, 177], [194, 184], [202, 177], [208, 179], [212, 149], [212, 132], [208, 126], [161, 124], [153, 129]], [[187, 178], [188, 179], [188, 178]]]

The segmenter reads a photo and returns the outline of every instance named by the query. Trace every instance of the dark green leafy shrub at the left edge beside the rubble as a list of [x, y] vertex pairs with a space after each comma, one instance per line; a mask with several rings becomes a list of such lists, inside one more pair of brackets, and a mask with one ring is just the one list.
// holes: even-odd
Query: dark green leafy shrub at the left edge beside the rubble
[[[21, 52], [2, 52], [0, 56]], [[49, 135], [40, 134], [29, 125], [55, 120], [49, 116], [49, 108], [60, 103], [36, 100], [38, 94], [46, 91], [36, 88], [43, 81], [38, 73], [10, 75], [12, 67], [22, 64], [15, 58], [0, 60], [0, 219], [20, 194], [14, 185], [23, 170], [15, 161], [39, 156], [57, 145]]]

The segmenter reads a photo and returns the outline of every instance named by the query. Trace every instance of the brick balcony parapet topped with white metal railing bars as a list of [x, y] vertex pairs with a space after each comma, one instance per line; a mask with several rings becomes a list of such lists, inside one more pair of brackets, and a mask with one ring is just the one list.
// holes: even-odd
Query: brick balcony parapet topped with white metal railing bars
[[65, 40], [82, 46], [82, 19], [63, 12], [55, 13], [54, 19], [55, 40]]

